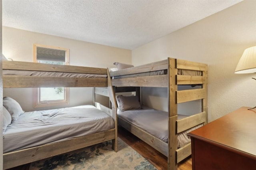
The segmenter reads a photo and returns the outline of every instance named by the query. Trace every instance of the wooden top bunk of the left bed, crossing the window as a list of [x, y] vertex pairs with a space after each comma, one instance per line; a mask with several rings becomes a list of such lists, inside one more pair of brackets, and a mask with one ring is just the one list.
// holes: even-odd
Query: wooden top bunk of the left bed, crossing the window
[[3, 88], [108, 87], [107, 69], [2, 61]]

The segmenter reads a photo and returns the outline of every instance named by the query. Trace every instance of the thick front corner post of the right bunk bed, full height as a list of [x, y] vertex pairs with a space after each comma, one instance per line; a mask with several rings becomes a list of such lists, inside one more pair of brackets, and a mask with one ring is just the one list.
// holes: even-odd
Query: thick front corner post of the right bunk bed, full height
[[176, 150], [177, 148], [177, 133], [176, 133], [176, 121], [178, 117], [177, 113], [177, 102], [176, 102], [176, 91], [177, 83], [177, 68], [176, 59], [168, 58], [168, 170], [177, 170]]

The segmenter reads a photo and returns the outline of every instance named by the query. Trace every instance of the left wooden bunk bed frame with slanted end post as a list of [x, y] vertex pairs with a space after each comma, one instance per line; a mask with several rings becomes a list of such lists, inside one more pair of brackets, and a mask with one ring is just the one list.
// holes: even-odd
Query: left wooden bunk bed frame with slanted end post
[[[96, 112], [101, 115], [102, 111], [104, 111], [104, 114], [107, 116], [103, 116], [111, 117], [111, 121], [114, 125], [112, 125], [110, 129], [98, 130], [96, 133], [84, 134], [79, 137], [68, 137], [68, 139], [40, 144], [39, 146], [23, 147], [22, 149], [14, 149], [13, 151], [8, 150], [8, 152], [4, 152], [3, 154], [4, 169], [109, 140], [112, 140], [112, 149], [117, 152], [117, 106], [115, 98], [113, 97], [114, 92], [107, 68], [2, 61], [2, 71], [3, 88], [94, 87], [94, 94], [108, 96], [112, 102], [112, 106], [109, 108], [94, 100], [94, 106], [86, 107], [90, 107], [89, 109], [94, 110], [97, 108], [98, 111]], [[76, 111], [78, 111], [76, 114], [81, 116], [80, 107], [65, 109], [68, 109], [70, 113], [72, 113], [70, 109], [76, 109]], [[30, 115], [32, 114], [31, 112]], [[22, 114], [22, 116], [23, 115], [25, 115], [25, 113]], [[16, 137], [16, 140], [19, 140], [18, 137]]]

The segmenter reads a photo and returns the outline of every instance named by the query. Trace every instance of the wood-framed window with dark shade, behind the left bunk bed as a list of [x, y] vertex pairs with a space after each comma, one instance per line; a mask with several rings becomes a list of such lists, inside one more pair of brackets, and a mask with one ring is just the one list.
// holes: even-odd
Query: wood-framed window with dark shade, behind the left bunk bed
[[[69, 65], [69, 49], [34, 44], [34, 62]], [[69, 103], [69, 88], [34, 88], [34, 107], [59, 106]]]

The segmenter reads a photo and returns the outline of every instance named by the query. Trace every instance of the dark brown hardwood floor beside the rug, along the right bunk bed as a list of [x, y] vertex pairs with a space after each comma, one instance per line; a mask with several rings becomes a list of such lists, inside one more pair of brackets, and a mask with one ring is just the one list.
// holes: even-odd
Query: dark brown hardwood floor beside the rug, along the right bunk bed
[[[144, 143], [138, 137], [126, 131], [126, 129], [122, 127], [118, 127], [118, 137], [120, 137], [120, 139], [146, 158], [158, 170], [167, 170], [167, 157], [158, 152], [156, 149], [150, 147], [148, 144]], [[30, 164], [25, 164], [15, 168], [10, 168], [8, 170], [28, 170], [29, 166]], [[178, 164], [178, 170], [192, 170], [191, 157], [188, 157], [180, 162]]]

